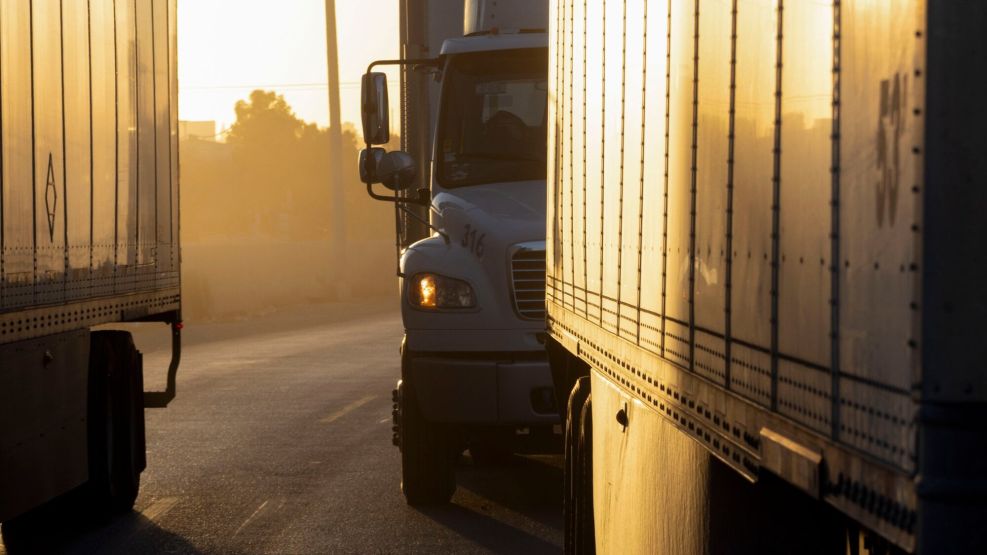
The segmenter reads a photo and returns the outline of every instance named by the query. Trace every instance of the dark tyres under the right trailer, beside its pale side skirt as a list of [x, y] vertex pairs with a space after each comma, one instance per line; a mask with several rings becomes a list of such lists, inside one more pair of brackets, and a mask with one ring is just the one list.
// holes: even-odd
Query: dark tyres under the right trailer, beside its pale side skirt
[[596, 551], [593, 522], [593, 410], [590, 379], [576, 380], [569, 395], [565, 429], [565, 552], [586, 554]]

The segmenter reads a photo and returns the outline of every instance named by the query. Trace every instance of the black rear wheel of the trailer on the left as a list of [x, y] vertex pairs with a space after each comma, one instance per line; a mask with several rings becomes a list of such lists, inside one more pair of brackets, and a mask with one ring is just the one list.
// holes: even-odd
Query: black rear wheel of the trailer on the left
[[89, 355], [87, 497], [105, 514], [129, 511], [146, 466], [141, 355], [130, 333], [98, 331]]

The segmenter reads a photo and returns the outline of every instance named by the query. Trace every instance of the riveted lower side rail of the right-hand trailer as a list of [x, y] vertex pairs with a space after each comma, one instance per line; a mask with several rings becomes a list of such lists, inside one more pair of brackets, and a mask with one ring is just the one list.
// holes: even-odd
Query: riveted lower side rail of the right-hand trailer
[[[756, 481], [762, 468], [769, 470], [903, 549], [914, 549], [917, 498], [911, 476], [616, 335], [606, 334], [607, 344], [600, 344], [591, 339], [601, 336], [596, 324], [558, 304], [552, 308], [553, 338], [747, 479]], [[819, 456], [815, 481], [805, 472], [782, 471], [800, 465], [813, 470], [813, 454]], [[784, 464], [777, 464], [778, 457]]]

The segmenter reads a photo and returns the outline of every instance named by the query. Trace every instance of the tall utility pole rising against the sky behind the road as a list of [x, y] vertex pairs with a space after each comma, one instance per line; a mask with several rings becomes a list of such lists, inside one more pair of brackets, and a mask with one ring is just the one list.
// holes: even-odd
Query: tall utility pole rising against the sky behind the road
[[326, 65], [329, 69], [329, 202], [332, 206], [330, 217], [332, 238], [329, 241], [329, 260], [332, 267], [331, 278], [336, 286], [337, 297], [343, 297], [349, 287], [344, 284], [346, 277], [346, 206], [343, 194], [343, 171], [341, 154], [343, 150], [343, 129], [340, 121], [339, 87], [339, 47], [336, 35], [336, 0], [326, 2]]

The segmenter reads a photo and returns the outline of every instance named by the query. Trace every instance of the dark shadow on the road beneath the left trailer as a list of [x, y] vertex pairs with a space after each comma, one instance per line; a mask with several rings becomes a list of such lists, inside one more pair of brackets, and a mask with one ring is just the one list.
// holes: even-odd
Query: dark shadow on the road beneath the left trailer
[[138, 512], [99, 517], [69, 493], [5, 522], [0, 553], [179, 553], [199, 551]]

